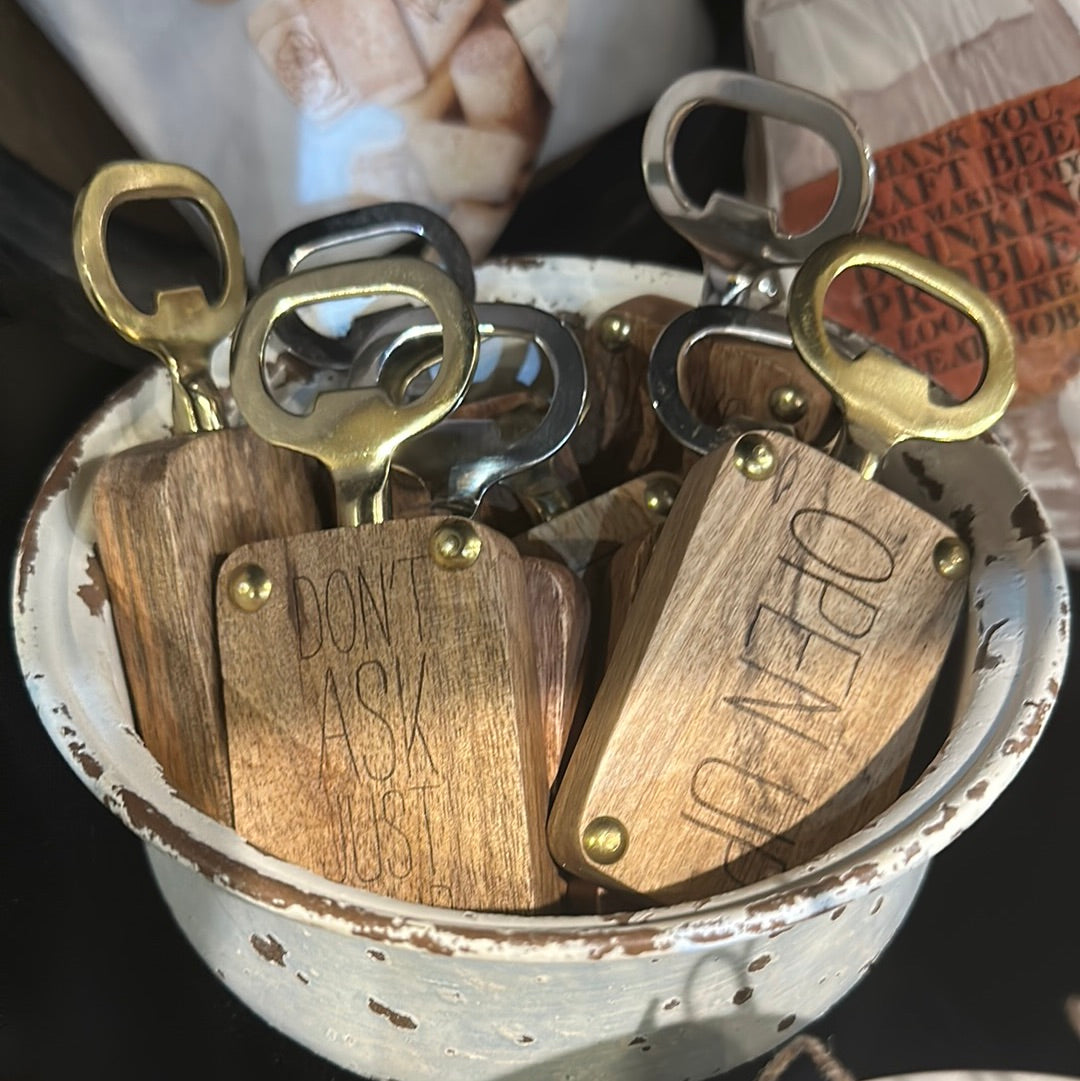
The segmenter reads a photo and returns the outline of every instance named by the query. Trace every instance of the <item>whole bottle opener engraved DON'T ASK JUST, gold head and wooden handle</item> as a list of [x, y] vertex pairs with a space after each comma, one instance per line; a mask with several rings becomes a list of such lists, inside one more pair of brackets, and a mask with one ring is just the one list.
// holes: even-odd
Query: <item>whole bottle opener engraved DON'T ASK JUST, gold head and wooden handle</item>
[[[323, 395], [310, 414], [268, 396], [275, 319], [328, 299], [405, 294], [442, 325], [414, 401]], [[529, 911], [560, 885], [547, 805], [524, 571], [512, 545], [455, 517], [386, 520], [390, 456], [437, 424], [476, 364], [471, 309], [411, 259], [302, 271], [250, 308], [232, 352], [249, 423], [331, 471], [342, 528], [234, 552], [218, 641], [237, 830], [274, 855], [401, 899]]]

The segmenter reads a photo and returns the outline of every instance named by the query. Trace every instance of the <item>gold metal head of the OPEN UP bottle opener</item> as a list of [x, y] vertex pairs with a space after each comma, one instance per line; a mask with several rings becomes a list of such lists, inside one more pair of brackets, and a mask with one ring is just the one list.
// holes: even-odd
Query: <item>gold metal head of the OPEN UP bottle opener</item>
[[[986, 364], [970, 398], [942, 402], [942, 392], [925, 375], [877, 347], [855, 360], [836, 348], [825, 325], [825, 295], [834, 279], [861, 266], [922, 290], [975, 324]], [[788, 304], [791, 341], [840, 402], [852, 442], [863, 451], [861, 471], [868, 479], [885, 453], [905, 440], [974, 439], [1004, 415], [1015, 393], [1015, 346], [1001, 309], [956, 271], [899, 244], [868, 237], [840, 237], [824, 244], [799, 268]]]

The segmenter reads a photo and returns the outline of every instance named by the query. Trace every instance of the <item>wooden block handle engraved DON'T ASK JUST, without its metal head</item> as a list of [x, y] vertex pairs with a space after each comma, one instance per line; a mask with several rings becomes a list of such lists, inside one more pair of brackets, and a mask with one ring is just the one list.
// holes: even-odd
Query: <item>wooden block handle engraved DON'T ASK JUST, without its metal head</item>
[[[218, 577], [236, 828], [326, 878], [498, 911], [556, 903], [524, 570], [482, 525], [437, 565], [444, 519], [248, 545]], [[258, 611], [229, 599], [256, 563]]]

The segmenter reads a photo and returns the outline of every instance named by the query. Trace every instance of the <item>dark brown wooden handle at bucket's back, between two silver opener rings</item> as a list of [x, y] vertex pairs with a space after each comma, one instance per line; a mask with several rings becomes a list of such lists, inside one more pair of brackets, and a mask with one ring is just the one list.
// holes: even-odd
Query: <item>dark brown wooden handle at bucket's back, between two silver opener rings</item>
[[[679, 468], [682, 448], [659, 423], [649, 396], [649, 355], [661, 331], [686, 310], [665, 296], [637, 296], [609, 308], [585, 332], [588, 409], [569, 446], [591, 494], [650, 470]], [[610, 319], [627, 328], [617, 345], [605, 341]]]

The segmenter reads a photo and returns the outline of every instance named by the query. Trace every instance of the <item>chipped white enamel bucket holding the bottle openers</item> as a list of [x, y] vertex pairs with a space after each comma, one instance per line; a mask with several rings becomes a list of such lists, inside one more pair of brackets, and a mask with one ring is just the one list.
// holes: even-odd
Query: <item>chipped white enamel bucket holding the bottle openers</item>
[[[696, 276], [543, 258], [480, 269], [482, 299], [587, 319]], [[94, 559], [93, 476], [168, 432], [165, 379], [141, 376], [54, 465], [16, 564], [27, 685], [71, 768], [146, 842], [176, 921], [269, 1024], [369, 1078], [706, 1078], [786, 1039], [886, 946], [934, 853], [1001, 793], [1052, 708], [1067, 655], [1062, 561], [1039, 505], [989, 440], [912, 444], [889, 483], [973, 545], [949, 669], [949, 735], [876, 822], [813, 863], [696, 904], [606, 917], [428, 908], [329, 882], [178, 799], [135, 734]]]

